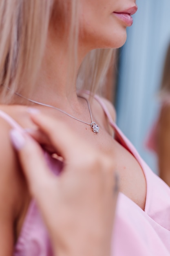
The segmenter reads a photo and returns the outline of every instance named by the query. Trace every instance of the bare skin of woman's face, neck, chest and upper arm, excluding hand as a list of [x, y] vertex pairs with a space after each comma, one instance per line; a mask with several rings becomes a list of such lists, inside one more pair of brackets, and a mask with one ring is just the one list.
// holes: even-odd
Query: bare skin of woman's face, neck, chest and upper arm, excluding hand
[[[125, 10], [135, 5], [134, 0], [81, 0], [79, 2], [80, 36], [77, 70], [89, 50], [98, 47], [120, 47], [125, 43], [126, 25], [114, 16], [113, 11]], [[89, 122], [90, 116], [86, 101], [77, 97], [73, 78], [68, 79], [69, 54], [67, 51], [68, 43], [65, 39], [68, 36], [68, 31], [64, 23], [66, 17], [63, 17], [62, 14], [56, 16], [56, 13], [61, 13], [57, 8], [54, 9], [50, 22], [44, 58], [32, 99], [56, 106], [78, 119]], [[22, 94], [27, 96], [27, 88], [23, 88]], [[108, 106], [113, 120], [115, 120], [113, 106], [106, 100], [104, 102]], [[28, 101], [21, 103], [19, 97], [15, 97], [13, 103], [15, 105], [28, 105]], [[111, 138], [112, 132], [110, 132], [108, 121], [99, 103], [93, 101], [91, 104], [94, 120], [100, 126], [98, 135], [91, 132], [91, 127], [77, 122], [61, 112], [42, 106], [33, 106], [53, 119], [62, 119], [70, 130], [86, 140], [89, 147], [93, 145], [96, 150], [100, 150], [104, 155], [114, 159], [114, 168], [120, 176], [120, 191], [144, 210], [146, 201], [144, 173], [132, 154]], [[30, 119], [25, 106], [1, 106], [1, 109], [13, 117], [22, 127], [34, 130], [38, 128]], [[31, 200], [29, 189], [25, 185], [26, 182], [22, 175], [22, 168], [15, 150], [11, 147], [10, 129], [11, 127], [0, 119], [0, 139], [3, 142], [0, 145], [0, 188], [2, 191], [0, 193], [0, 207], [4, 209], [0, 211], [0, 225], [2, 227], [0, 230], [0, 247], [2, 248], [2, 255], [6, 256], [12, 255], [13, 244], [20, 234]]]

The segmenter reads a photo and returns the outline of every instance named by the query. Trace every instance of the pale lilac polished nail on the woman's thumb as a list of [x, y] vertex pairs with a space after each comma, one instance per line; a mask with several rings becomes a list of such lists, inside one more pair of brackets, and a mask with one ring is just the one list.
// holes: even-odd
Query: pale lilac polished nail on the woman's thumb
[[20, 150], [25, 144], [24, 136], [18, 130], [11, 130], [10, 138], [12, 145], [16, 150]]

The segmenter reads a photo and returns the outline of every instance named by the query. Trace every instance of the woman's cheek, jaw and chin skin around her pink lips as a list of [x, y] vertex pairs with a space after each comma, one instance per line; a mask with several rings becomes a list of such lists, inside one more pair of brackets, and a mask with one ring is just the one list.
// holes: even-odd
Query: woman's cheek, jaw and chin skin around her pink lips
[[83, 28], [80, 40], [86, 40], [87, 50], [94, 49], [94, 45], [95, 48], [118, 48], [123, 45], [126, 40], [126, 25], [118, 21], [113, 12], [132, 6], [134, 1], [131, 0], [81, 1], [80, 27]]

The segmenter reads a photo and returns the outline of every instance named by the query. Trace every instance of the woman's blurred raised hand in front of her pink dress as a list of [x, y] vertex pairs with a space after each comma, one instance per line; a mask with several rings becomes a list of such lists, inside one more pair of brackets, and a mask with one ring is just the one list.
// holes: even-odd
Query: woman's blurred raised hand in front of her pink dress
[[22, 169], [58, 256], [110, 255], [117, 191], [112, 159], [94, 149], [58, 120], [31, 115], [47, 146], [64, 159], [55, 176], [42, 148], [26, 134], [11, 131]]

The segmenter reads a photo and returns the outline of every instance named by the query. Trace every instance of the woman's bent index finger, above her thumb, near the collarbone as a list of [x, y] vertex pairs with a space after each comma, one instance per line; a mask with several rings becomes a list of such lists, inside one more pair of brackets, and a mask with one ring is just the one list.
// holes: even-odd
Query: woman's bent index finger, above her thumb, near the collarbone
[[79, 143], [81, 138], [60, 120], [41, 113], [31, 114], [31, 119], [47, 135], [51, 145], [64, 159], [69, 160], [73, 152], [79, 152], [79, 148], [84, 145], [83, 141]]

